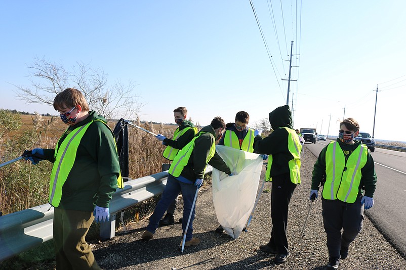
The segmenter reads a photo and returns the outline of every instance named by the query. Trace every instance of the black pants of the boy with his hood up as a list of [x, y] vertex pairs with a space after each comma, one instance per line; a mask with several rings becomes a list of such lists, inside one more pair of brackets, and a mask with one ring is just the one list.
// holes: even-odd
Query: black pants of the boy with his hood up
[[271, 217], [272, 232], [268, 246], [278, 254], [289, 254], [286, 231], [288, 228], [288, 210], [296, 185], [289, 173], [272, 177]]

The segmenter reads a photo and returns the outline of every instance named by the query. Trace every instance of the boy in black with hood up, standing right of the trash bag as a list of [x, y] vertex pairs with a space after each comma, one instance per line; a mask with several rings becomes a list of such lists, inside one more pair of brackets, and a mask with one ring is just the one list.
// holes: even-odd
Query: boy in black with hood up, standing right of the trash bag
[[267, 138], [256, 136], [254, 139], [254, 150], [269, 155], [265, 181], [272, 182], [271, 238], [268, 244], [260, 246], [260, 250], [276, 254], [274, 262], [283, 263], [289, 256], [286, 236], [288, 209], [293, 192], [300, 184], [302, 147], [299, 137], [292, 128], [292, 113], [288, 105], [270, 112], [269, 122], [273, 132]]

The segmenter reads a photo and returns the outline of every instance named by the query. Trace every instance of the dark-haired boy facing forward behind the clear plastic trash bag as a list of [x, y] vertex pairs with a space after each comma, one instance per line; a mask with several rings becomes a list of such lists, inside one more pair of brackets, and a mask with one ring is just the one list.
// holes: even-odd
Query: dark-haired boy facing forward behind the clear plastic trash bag
[[[226, 131], [221, 137], [218, 145], [225, 145], [235, 149], [254, 153], [253, 144], [255, 130], [248, 127], [249, 121], [250, 115], [247, 112], [237, 112], [234, 123], [226, 124]], [[262, 155], [262, 158], [266, 160], [268, 155]], [[222, 234], [223, 232], [224, 230], [221, 226], [216, 229], [216, 233]]]

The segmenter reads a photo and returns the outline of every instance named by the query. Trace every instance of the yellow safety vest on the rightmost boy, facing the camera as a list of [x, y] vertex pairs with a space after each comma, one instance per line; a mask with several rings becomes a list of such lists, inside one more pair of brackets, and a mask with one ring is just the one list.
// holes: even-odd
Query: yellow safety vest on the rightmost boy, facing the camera
[[340, 145], [331, 142], [326, 150], [326, 183], [323, 187], [323, 198], [339, 199], [353, 203], [358, 195], [361, 182], [361, 168], [368, 159], [368, 147], [360, 144], [345, 161]]

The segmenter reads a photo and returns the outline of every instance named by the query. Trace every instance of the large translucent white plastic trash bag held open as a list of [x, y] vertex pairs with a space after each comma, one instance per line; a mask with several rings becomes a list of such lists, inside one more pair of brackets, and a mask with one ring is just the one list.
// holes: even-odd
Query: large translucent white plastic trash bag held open
[[233, 175], [213, 168], [214, 208], [224, 231], [237, 239], [254, 208], [263, 159], [228, 146], [216, 146], [216, 151]]

